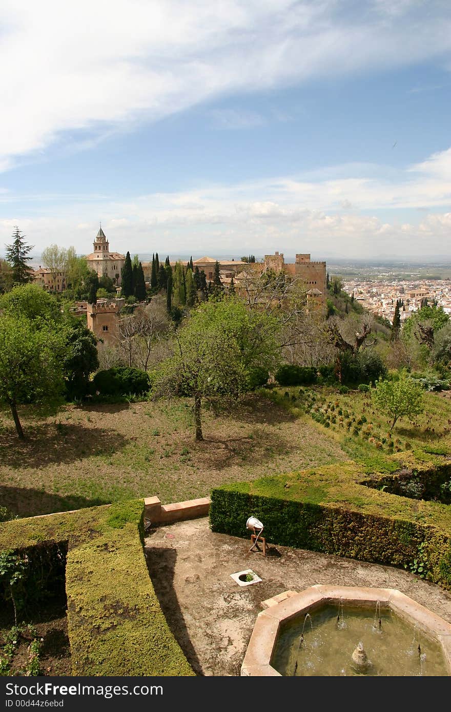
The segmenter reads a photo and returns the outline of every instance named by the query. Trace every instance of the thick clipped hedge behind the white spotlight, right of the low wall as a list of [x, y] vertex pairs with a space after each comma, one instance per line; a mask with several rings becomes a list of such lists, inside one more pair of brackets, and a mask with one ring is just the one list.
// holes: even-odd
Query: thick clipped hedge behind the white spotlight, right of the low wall
[[[424, 452], [393, 456], [406, 467], [445, 480], [451, 464]], [[404, 461], [403, 461], [404, 460]], [[376, 481], [377, 475], [373, 475]], [[368, 475], [353, 461], [227, 484], [212, 491], [214, 532], [247, 537], [247, 518], [264, 523], [274, 544], [304, 548], [414, 570], [419, 547], [427, 580], [451, 591], [450, 506], [364, 486]]]

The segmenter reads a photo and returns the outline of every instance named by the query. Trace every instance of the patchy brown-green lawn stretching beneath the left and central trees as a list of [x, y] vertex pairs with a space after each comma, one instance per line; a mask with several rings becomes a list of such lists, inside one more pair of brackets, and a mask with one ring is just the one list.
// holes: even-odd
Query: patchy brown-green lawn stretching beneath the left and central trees
[[204, 409], [203, 442], [184, 399], [20, 415], [25, 441], [0, 413], [0, 503], [21, 517], [152, 495], [183, 501], [222, 483], [349, 459], [308, 416], [255, 395], [219, 415]]

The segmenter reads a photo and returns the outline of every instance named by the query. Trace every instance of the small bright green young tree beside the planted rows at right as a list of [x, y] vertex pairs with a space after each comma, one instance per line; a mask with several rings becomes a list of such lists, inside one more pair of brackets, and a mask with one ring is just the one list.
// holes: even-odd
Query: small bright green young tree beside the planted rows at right
[[396, 380], [376, 382], [371, 397], [374, 406], [390, 417], [390, 430], [398, 418], [407, 416], [412, 419], [424, 409], [423, 386], [405, 371], [401, 371]]

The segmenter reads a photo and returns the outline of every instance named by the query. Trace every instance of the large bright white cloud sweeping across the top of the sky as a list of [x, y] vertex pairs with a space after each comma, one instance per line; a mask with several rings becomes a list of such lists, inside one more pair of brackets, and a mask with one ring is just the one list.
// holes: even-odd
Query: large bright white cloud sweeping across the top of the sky
[[446, 3], [395, 6], [394, 14], [393, 2], [371, 0], [4, 0], [0, 169], [65, 132], [90, 132], [86, 147], [221, 94], [445, 63]]

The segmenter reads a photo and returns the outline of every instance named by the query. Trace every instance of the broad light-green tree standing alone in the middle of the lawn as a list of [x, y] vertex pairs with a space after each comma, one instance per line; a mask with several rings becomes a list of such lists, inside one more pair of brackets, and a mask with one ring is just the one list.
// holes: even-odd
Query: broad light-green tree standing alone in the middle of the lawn
[[279, 322], [237, 299], [204, 302], [175, 332], [175, 352], [155, 375], [155, 397], [194, 399], [196, 439], [202, 440], [202, 399], [237, 397], [252, 388], [256, 368], [279, 365]]

